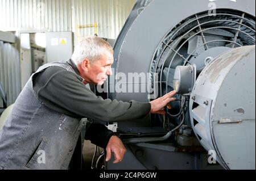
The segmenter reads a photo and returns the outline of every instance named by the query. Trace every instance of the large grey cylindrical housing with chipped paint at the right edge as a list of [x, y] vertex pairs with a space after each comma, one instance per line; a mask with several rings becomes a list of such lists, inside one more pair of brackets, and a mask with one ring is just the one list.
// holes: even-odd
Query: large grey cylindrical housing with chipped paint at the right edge
[[212, 100], [209, 119], [194, 127], [208, 140], [201, 141], [204, 148], [216, 151], [226, 169], [255, 169], [255, 45], [217, 57], [198, 77], [192, 95]]

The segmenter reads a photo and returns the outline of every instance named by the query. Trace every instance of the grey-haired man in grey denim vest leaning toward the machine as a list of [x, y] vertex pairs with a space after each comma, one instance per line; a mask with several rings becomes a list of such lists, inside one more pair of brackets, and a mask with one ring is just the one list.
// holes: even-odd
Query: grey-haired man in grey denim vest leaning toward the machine
[[[106, 148], [106, 161], [122, 161], [125, 146], [98, 121], [127, 121], [163, 113], [170, 92], [150, 103], [102, 99], [86, 88], [112, 75], [113, 49], [100, 37], [86, 37], [71, 60], [43, 65], [20, 92], [0, 132], [2, 169], [80, 169], [84, 138]], [[94, 121], [85, 124], [86, 117]], [[86, 125], [86, 126], [85, 126]]]

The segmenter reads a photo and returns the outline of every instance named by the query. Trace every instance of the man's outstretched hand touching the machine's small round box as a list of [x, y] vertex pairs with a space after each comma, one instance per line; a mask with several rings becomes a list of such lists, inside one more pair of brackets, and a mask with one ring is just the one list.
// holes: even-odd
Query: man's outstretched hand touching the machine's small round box
[[150, 104], [151, 104], [150, 113], [159, 113], [161, 115], [165, 114], [166, 112], [162, 109], [166, 105], [167, 105], [168, 108], [171, 108], [171, 105], [168, 104], [168, 103], [170, 103], [173, 100], [176, 100], [176, 98], [172, 98], [175, 94], [176, 94], [176, 91], [171, 91], [168, 94], [166, 94], [166, 95], [164, 95], [164, 96], [162, 96], [158, 99], [152, 100], [150, 102]]

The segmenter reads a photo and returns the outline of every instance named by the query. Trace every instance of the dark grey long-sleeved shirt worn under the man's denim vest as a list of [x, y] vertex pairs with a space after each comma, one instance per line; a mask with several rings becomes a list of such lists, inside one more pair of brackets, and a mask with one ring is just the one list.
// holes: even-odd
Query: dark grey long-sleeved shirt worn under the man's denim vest
[[[100, 96], [96, 96], [79, 81], [79, 71], [73, 61], [69, 60], [68, 64], [72, 66], [76, 74], [59, 66], [52, 66], [38, 73], [34, 79], [36, 96], [52, 110], [72, 117], [87, 117], [96, 122], [129, 121], [144, 117], [150, 112], [150, 103], [134, 100], [129, 103], [110, 99], [104, 100]], [[89, 134], [86, 133], [86, 137], [94, 144], [102, 145], [104, 148], [110, 136], [101, 140], [102, 137], [98, 138], [96, 133], [101, 132], [101, 134], [110, 135], [110, 132], [104, 125], [102, 127], [97, 123], [92, 124], [89, 129]]]

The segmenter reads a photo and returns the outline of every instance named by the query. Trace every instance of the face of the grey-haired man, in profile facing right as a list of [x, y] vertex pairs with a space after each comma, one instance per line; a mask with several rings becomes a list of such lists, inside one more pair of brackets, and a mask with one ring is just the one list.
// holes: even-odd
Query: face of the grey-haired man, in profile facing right
[[103, 85], [108, 76], [113, 74], [111, 69], [113, 62], [114, 58], [111, 53], [102, 54], [99, 60], [89, 62], [88, 71], [84, 77], [86, 83]]

